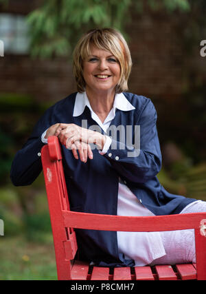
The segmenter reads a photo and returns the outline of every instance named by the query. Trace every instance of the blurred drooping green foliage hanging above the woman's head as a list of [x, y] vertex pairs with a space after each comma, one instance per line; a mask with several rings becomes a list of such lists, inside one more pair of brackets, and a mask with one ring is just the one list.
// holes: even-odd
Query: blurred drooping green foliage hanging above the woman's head
[[83, 32], [92, 28], [111, 27], [125, 33], [130, 11], [144, 9], [175, 12], [190, 10], [187, 0], [50, 0], [30, 12], [31, 54], [47, 58], [69, 56]]

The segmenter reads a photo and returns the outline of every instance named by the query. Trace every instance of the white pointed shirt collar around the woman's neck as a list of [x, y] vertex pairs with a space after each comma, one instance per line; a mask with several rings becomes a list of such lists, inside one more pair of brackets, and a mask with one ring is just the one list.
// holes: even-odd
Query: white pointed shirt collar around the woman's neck
[[[73, 107], [73, 116], [80, 116], [84, 112], [85, 106], [89, 107], [91, 112], [93, 112], [93, 109], [91, 108], [89, 99], [87, 97], [87, 93], [78, 92], [76, 94], [76, 100]], [[115, 100], [113, 103], [114, 114], [116, 109], [122, 110], [124, 112], [128, 112], [130, 110], [135, 109], [135, 107], [127, 100], [127, 98], [124, 96], [123, 93], [120, 93], [120, 94], [115, 94]]]

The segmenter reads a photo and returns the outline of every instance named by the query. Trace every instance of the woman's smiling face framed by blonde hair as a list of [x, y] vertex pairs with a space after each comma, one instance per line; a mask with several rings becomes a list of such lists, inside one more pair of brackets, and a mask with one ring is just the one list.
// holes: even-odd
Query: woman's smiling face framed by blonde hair
[[120, 78], [120, 65], [111, 52], [91, 47], [83, 63], [86, 90], [113, 92]]

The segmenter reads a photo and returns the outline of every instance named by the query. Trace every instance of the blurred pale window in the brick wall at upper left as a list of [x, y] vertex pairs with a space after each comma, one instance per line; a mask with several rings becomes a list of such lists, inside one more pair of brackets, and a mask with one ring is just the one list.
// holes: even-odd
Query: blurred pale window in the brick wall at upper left
[[1, 13], [0, 40], [3, 41], [5, 54], [27, 54], [30, 38], [25, 16]]

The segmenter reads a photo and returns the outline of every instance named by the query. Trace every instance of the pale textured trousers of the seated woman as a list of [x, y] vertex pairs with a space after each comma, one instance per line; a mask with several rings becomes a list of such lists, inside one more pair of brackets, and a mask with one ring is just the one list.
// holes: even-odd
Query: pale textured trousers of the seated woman
[[[181, 211], [181, 213], [195, 212], [206, 212], [206, 202], [197, 200]], [[160, 233], [166, 255], [153, 260], [150, 265], [196, 262], [194, 229]]]

